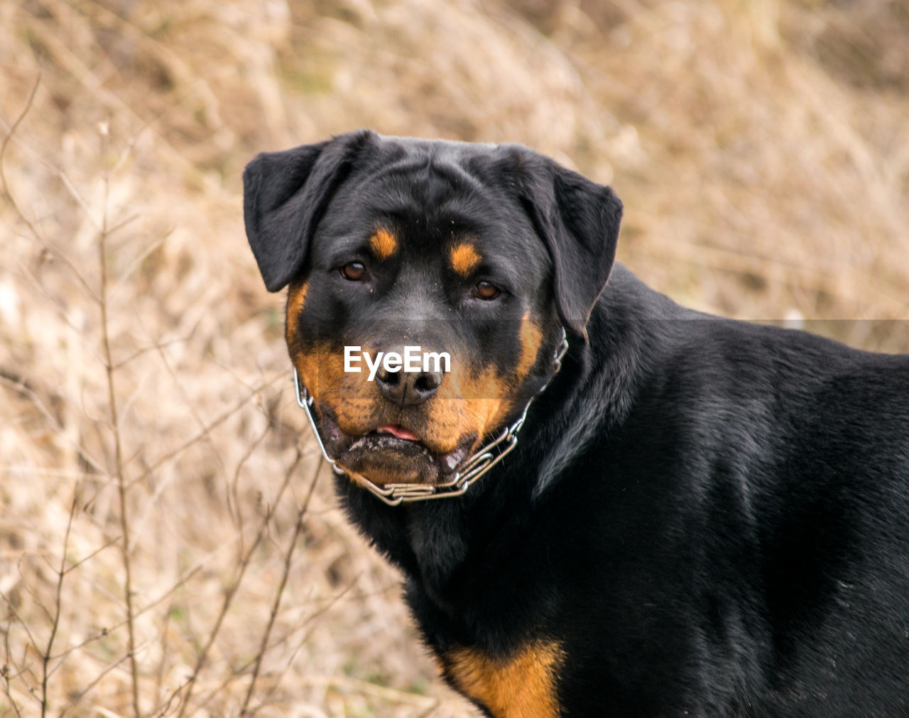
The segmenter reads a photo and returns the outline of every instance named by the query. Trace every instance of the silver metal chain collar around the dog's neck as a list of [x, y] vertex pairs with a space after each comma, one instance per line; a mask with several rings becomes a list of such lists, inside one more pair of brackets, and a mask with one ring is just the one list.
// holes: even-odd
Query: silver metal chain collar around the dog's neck
[[[300, 377], [294, 369], [294, 389], [296, 394], [296, 403], [305, 409], [306, 418], [313, 428], [315, 440], [319, 442], [319, 448], [325, 461], [332, 467], [335, 474], [340, 476], [350, 475], [355, 477], [356, 483], [372, 491], [375, 496], [381, 498], [390, 507], [396, 507], [402, 503], [412, 503], [415, 501], [428, 501], [432, 498], [449, 498], [459, 497], [471, 487], [471, 485], [482, 477], [489, 469], [498, 464], [509, 452], [517, 446], [517, 433], [524, 426], [524, 419], [527, 418], [527, 409], [534, 403], [534, 398], [540, 396], [544, 389], [549, 386], [549, 382], [562, 369], [562, 359], [565, 352], [568, 351], [568, 338], [565, 335], [564, 327], [562, 328], [562, 341], [555, 348], [553, 355], [554, 370], [546, 383], [524, 404], [524, 411], [521, 416], [514, 420], [514, 423], [502, 429], [502, 433], [494, 438], [484, 448], [478, 449], [474, 454], [467, 458], [464, 467], [454, 474], [454, 478], [445, 484], [386, 484], [385, 487], [376, 486], [372, 481], [353, 471], [338, 466], [334, 458], [328, 456], [325, 451], [325, 444], [322, 443], [322, 437], [319, 435], [319, 429], [315, 426], [315, 417], [313, 416], [313, 398], [306, 391], [306, 388], [300, 381]], [[494, 449], [498, 448], [498, 453]]]

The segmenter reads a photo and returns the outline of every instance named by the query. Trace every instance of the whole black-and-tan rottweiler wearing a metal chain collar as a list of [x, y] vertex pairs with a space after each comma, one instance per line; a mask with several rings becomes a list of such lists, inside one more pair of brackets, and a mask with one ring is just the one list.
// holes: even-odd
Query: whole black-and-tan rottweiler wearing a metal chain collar
[[244, 184], [336, 494], [485, 714], [909, 715], [909, 356], [678, 306], [521, 145], [358, 131]]

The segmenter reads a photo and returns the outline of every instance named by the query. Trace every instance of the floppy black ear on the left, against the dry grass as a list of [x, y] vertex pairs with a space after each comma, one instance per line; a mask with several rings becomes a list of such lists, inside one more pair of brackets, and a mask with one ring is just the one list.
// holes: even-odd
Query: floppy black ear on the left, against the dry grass
[[285, 288], [303, 269], [315, 225], [355, 158], [375, 133], [360, 130], [324, 143], [261, 152], [243, 172], [246, 237], [265, 288]]

